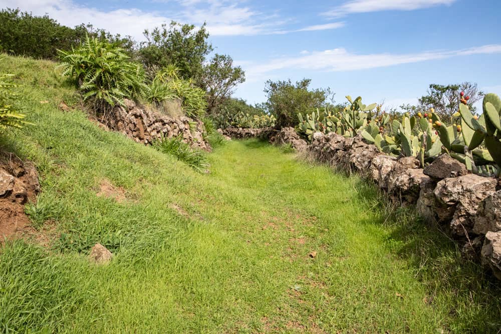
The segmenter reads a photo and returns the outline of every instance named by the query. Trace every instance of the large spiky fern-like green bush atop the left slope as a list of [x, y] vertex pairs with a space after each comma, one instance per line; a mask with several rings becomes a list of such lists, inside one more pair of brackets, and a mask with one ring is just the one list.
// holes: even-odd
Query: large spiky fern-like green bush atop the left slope
[[63, 75], [75, 81], [84, 101], [91, 99], [95, 110], [123, 105], [123, 99], [137, 99], [144, 92], [144, 71], [123, 49], [97, 38], [86, 38], [72, 52], [60, 51]]

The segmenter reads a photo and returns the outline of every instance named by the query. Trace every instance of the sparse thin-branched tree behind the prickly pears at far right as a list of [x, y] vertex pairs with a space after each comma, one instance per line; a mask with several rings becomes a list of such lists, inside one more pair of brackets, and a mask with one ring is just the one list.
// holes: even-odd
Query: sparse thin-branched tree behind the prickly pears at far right
[[427, 95], [419, 99], [418, 108], [420, 107], [421, 110], [433, 108], [442, 120], [449, 121], [458, 111], [461, 92], [464, 92], [465, 97], [469, 96], [468, 107], [472, 113], [475, 113], [473, 104], [480, 100], [484, 93], [478, 90], [476, 84], [470, 82], [447, 86], [431, 84]]

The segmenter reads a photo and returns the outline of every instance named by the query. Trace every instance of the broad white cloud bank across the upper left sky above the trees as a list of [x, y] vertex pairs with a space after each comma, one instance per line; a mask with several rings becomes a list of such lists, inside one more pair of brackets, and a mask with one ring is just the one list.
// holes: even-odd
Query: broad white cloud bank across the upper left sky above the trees
[[[59, 23], [73, 27], [91, 23], [113, 34], [130, 35], [143, 40], [144, 29], [152, 29], [176, 20], [195, 25], [207, 24], [211, 36], [253, 36], [289, 34], [302, 31], [336, 29], [343, 23], [291, 29], [292, 19], [278, 13], [262, 13], [250, 8], [245, 0], [156, 0], [168, 5], [169, 11], [143, 11], [136, 8], [105, 11], [85, 7], [74, 0], [0, 0], [1, 8], [17, 8], [34, 15], [49, 14]], [[172, 7], [176, 7], [175, 9]], [[160, 6], [159, 6], [160, 7]], [[271, 20], [273, 19], [273, 20]]]

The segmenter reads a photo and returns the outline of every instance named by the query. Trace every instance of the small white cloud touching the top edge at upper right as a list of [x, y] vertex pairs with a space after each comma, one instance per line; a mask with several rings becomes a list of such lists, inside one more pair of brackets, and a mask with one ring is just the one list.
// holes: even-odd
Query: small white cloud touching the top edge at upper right
[[457, 0], [352, 0], [324, 13], [329, 17], [342, 17], [352, 13], [381, 11], [414, 11], [440, 5], [452, 5]]

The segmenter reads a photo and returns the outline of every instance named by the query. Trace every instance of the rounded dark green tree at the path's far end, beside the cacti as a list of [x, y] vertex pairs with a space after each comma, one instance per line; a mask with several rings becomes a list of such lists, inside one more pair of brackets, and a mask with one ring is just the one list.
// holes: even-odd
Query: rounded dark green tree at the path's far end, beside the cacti
[[332, 94], [329, 88], [309, 90], [311, 79], [303, 79], [293, 85], [291, 80], [266, 82], [264, 92], [268, 94], [266, 109], [277, 118], [276, 127], [296, 126], [298, 113], [311, 113], [323, 108]]

